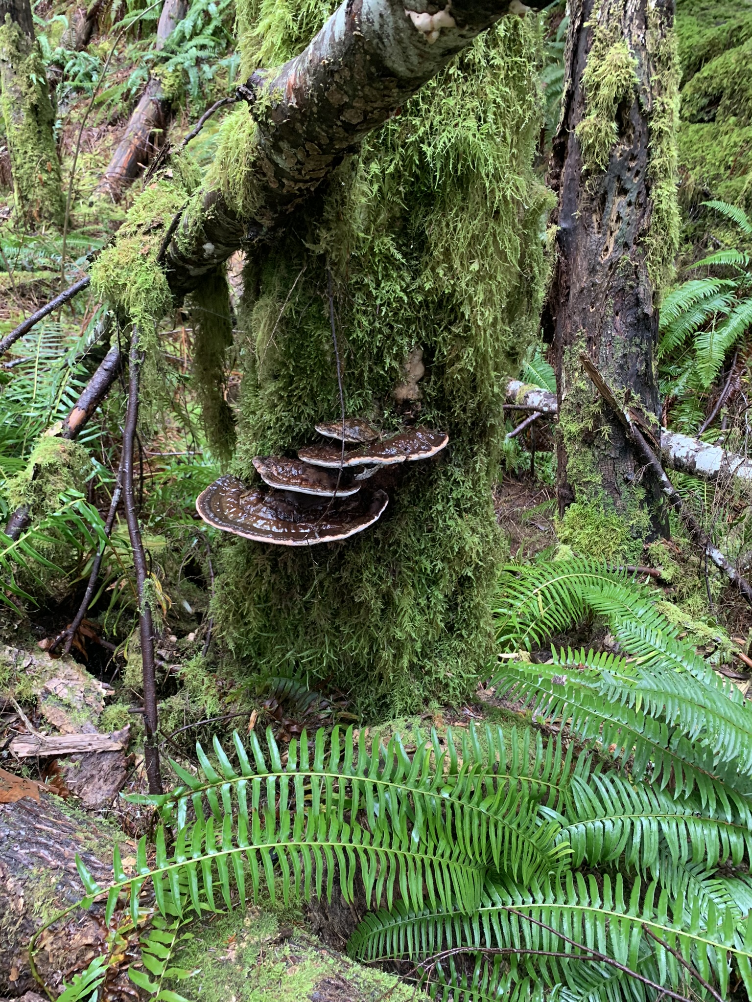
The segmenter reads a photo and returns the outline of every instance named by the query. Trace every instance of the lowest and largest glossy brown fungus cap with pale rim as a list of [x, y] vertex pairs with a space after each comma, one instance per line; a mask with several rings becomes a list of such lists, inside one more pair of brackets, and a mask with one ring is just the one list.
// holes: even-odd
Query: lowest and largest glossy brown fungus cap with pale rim
[[[302, 499], [308, 501], [308, 499]], [[267, 489], [249, 490], [237, 477], [220, 477], [199, 495], [196, 508], [205, 522], [245, 539], [278, 546], [313, 546], [362, 532], [386, 508], [384, 491], [361, 491], [352, 498], [305, 503]]]

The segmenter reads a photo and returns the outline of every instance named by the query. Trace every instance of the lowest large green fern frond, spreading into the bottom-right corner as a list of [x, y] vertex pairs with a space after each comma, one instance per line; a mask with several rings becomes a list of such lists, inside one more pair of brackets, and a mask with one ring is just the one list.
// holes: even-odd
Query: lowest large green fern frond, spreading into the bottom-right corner
[[[711, 901], [705, 915], [693, 903], [686, 921], [681, 895], [672, 902], [668, 891], [655, 883], [643, 886], [639, 878], [628, 888], [621, 874], [614, 881], [604, 875], [602, 885], [592, 875], [568, 874], [560, 884], [529, 890], [488, 881], [480, 908], [469, 917], [451, 910], [411, 913], [404, 904], [391, 913], [382, 910], [361, 922], [348, 952], [361, 960], [375, 960], [430, 956], [463, 946], [468, 952], [513, 947], [508, 954], [511, 980], [529, 976], [534, 963], [533, 977], [582, 994], [615, 980], [613, 969], [595, 961], [592, 954], [591, 962], [585, 963], [589, 948], [633, 971], [653, 975], [667, 987], [683, 985], [687, 972], [660, 940], [687, 958], [703, 977], [715, 979], [721, 994], [726, 994], [729, 955], [747, 990], [752, 987], [752, 920], [741, 929], [735, 920], [732, 910]], [[569, 956], [537, 955], [546, 951]], [[639, 986], [632, 983], [628, 990], [637, 991]]]

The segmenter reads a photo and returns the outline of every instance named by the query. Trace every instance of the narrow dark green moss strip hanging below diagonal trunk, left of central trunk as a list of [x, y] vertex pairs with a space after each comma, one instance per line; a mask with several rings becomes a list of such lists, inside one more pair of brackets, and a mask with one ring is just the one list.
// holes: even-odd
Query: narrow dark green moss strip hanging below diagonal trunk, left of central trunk
[[227, 461], [235, 446], [235, 418], [226, 400], [225, 353], [233, 344], [230, 289], [224, 270], [206, 275], [193, 295], [194, 381], [212, 452]]

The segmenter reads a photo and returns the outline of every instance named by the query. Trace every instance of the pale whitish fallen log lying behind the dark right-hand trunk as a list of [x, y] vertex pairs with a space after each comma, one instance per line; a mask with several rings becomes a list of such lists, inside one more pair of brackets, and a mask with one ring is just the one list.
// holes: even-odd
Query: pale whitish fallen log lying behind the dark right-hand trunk
[[[516, 408], [537, 411], [554, 417], [557, 414], [556, 395], [520, 380], [510, 380], [506, 385], [506, 399]], [[719, 477], [736, 477], [738, 480], [752, 481], [752, 459], [727, 452], [719, 445], [711, 445], [661, 429], [661, 457], [666, 466], [679, 473], [691, 473], [703, 480], [717, 480]]]

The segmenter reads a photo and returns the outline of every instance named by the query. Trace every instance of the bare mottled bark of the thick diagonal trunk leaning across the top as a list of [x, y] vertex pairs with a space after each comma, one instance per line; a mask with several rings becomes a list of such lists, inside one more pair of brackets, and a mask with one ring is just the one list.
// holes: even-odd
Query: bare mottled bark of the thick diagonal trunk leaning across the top
[[258, 131], [247, 174], [234, 185], [253, 191], [254, 208], [245, 216], [216, 186], [194, 196], [165, 258], [175, 294], [241, 247], [263, 244], [347, 153], [508, 8], [506, 0], [455, 0], [455, 26], [429, 43], [408, 16], [426, 5], [410, 2], [346, 0], [304, 52], [241, 88]]

